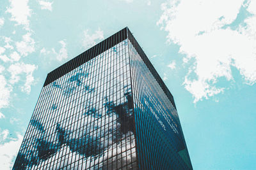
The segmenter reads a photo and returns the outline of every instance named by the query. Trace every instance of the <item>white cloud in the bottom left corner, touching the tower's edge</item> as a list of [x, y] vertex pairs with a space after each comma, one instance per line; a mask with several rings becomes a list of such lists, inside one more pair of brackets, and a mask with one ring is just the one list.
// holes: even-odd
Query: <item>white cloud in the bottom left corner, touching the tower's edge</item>
[[12, 139], [8, 143], [0, 145], [1, 169], [12, 169], [13, 159], [15, 159], [17, 153], [19, 152], [22, 139], [23, 137], [20, 134], [17, 134], [17, 139]]

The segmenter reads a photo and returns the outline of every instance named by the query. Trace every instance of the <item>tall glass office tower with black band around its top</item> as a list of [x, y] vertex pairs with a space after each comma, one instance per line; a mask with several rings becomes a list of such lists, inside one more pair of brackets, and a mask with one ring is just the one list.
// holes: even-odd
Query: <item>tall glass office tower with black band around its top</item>
[[47, 75], [13, 169], [192, 169], [173, 96], [127, 27]]

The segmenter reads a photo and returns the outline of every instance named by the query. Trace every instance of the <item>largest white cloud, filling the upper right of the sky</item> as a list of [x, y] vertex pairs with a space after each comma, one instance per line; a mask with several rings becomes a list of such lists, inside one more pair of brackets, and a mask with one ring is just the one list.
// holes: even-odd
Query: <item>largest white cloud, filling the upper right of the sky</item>
[[[253, 15], [244, 19], [246, 25], [231, 28], [228, 25], [241, 7]], [[255, 1], [181, 0], [168, 1], [161, 8], [163, 15], [157, 24], [168, 32], [168, 42], [180, 45], [184, 62], [195, 61], [184, 81], [194, 102], [223, 92], [225, 87], [216, 87], [216, 82], [220, 77], [232, 80], [230, 66], [239, 69], [247, 83], [256, 82]]]

